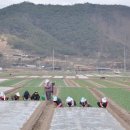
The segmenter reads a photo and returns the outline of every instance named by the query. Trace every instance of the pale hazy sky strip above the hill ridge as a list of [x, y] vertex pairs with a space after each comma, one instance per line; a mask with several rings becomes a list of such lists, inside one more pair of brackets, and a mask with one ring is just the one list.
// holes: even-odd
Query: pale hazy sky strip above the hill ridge
[[60, 4], [70, 5], [76, 3], [92, 3], [92, 4], [117, 4], [130, 6], [130, 0], [0, 0], [0, 8], [6, 7], [11, 4], [17, 4], [23, 1], [33, 2], [35, 4]]

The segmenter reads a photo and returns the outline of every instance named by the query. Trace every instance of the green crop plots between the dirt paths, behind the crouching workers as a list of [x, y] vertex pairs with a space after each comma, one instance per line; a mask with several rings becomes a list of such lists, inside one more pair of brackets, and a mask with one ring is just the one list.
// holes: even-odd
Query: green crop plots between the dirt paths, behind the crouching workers
[[[1, 87], [9, 87], [15, 86], [15, 84], [22, 82], [25, 79], [10, 79], [0, 83]], [[43, 96], [44, 89], [43, 89], [43, 81], [44, 79], [35, 78], [35, 79], [28, 79], [26, 83], [23, 85], [22, 88], [19, 89], [20, 94], [22, 95], [25, 90], [28, 90], [30, 94], [35, 91], [38, 91], [40, 96]], [[79, 84], [81, 87], [73, 87], [68, 85], [64, 79], [52, 79], [55, 82], [56, 86], [59, 88], [59, 97], [62, 99], [63, 103], [67, 96], [73, 97], [76, 102], [77, 106], [79, 106], [79, 101], [81, 97], [86, 97], [88, 102], [93, 107], [97, 107], [97, 100], [96, 98], [90, 93], [88, 88], [95, 87], [99, 91], [102, 91], [106, 97], [112, 99], [116, 102], [119, 106], [124, 108], [127, 111], [130, 111], [130, 90], [129, 90], [129, 79], [89, 79], [89, 80], [82, 80], [82, 79], [73, 79], [74, 82]]]

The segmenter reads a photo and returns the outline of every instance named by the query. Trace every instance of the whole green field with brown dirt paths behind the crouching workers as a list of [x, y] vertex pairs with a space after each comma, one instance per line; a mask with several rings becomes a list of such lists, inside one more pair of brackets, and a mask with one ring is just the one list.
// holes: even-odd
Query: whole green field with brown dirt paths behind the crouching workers
[[[3, 87], [13, 88], [13, 91], [7, 93], [7, 96], [11, 96], [16, 92], [20, 92], [22, 101], [22, 95], [25, 90], [28, 90], [30, 94], [38, 91], [40, 96], [45, 96], [43, 83], [45, 76], [49, 76], [52, 82], [55, 82], [57, 88], [58, 97], [61, 98], [63, 106], [66, 107], [66, 97], [71, 96], [75, 99], [77, 107], [80, 107], [79, 101], [81, 97], [85, 97], [91, 107], [98, 108], [97, 102], [101, 97], [106, 96], [109, 101], [108, 111], [127, 129], [130, 128], [130, 77], [129, 75], [105, 75], [105, 79], [101, 79], [102, 75], [91, 74], [86, 75], [69, 75], [73, 78], [67, 78], [67, 75], [58, 75], [63, 78], [56, 78], [56, 75], [39, 74], [34, 75], [31, 73], [17, 73], [17, 75], [9, 75], [9, 73], [1, 72], [1, 79], [5, 79], [0, 82], [0, 90]], [[82, 78], [84, 76], [84, 78]], [[104, 75], [103, 75], [104, 76]], [[74, 78], [75, 77], [75, 78]], [[86, 78], [85, 78], [86, 77]], [[14, 89], [15, 88], [15, 89]], [[11, 99], [9, 99], [11, 100]], [[45, 102], [40, 98], [41, 102]], [[46, 103], [45, 103], [46, 104]], [[52, 105], [52, 104], [51, 104]], [[50, 105], [46, 106], [49, 107]], [[53, 106], [54, 107], [54, 106]], [[51, 108], [48, 108], [50, 110]], [[51, 111], [51, 110], [50, 110]], [[115, 114], [115, 115], [114, 115]], [[45, 113], [43, 114], [45, 116]], [[122, 116], [122, 117], [121, 117]], [[52, 118], [52, 117], [51, 117]], [[51, 120], [49, 118], [48, 120]], [[41, 127], [43, 126], [40, 124]], [[35, 125], [37, 126], [37, 125]], [[49, 126], [46, 127], [49, 129]], [[40, 130], [40, 128], [34, 128], [34, 130]]]

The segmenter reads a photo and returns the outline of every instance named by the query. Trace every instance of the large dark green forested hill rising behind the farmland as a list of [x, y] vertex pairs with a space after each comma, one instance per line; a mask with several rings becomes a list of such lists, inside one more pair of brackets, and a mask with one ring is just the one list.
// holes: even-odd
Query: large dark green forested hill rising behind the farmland
[[0, 34], [12, 48], [33, 54], [123, 57], [130, 49], [130, 8], [21, 3], [0, 10]]

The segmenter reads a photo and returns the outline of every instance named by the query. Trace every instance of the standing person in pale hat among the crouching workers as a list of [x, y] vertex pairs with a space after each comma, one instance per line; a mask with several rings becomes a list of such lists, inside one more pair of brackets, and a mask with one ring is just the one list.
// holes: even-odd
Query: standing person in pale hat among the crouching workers
[[49, 79], [44, 82], [44, 90], [47, 100], [51, 100], [55, 83], [51, 83]]

